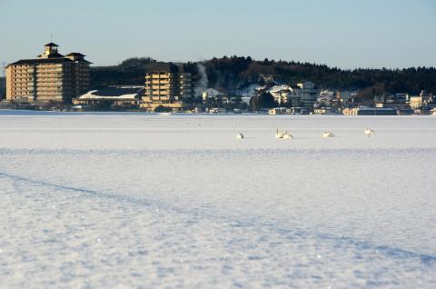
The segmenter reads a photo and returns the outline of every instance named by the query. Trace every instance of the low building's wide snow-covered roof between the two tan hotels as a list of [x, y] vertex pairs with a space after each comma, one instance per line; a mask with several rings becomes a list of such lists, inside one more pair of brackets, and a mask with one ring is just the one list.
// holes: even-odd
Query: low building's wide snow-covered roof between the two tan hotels
[[144, 86], [108, 86], [92, 90], [78, 99], [134, 100], [144, 93]]

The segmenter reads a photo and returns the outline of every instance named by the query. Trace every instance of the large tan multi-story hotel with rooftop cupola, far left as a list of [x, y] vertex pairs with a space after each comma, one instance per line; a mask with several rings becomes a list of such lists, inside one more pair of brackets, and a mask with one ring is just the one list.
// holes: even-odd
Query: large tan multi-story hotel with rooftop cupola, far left
[[6, 100], [71, 102], [89, 89], [89, 65], [84, 55], [61, 55], [58, 45], [45, 45], [35, 59], [6, 66]]

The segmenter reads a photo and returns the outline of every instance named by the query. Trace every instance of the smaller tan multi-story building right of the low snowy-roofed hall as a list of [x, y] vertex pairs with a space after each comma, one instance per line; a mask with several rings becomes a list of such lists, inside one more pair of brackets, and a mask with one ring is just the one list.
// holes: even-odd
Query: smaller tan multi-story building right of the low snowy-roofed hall
[[193, 75], [183, 65], [173, 63], [156, 65], [145, 75], [145, 93], [142, 107], [154, 110], [157, 106], [183, 110], [193, 99]]

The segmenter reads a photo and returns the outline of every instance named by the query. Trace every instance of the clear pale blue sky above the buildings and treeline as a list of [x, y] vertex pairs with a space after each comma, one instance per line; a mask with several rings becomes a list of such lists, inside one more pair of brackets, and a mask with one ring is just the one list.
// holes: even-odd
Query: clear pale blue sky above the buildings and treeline
[[0, 62], [61, 53], [94, 65], [251, 55], [354, 67], [436, 66], [436, 0], [0, 0]]

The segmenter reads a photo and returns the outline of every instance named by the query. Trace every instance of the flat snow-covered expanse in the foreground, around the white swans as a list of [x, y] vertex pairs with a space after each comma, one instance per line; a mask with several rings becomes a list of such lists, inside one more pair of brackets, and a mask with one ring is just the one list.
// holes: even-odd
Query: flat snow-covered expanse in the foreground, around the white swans
[[0, 111], [0, 287], [435, 288], [435, 174], [433, 116]]

